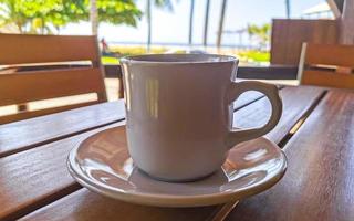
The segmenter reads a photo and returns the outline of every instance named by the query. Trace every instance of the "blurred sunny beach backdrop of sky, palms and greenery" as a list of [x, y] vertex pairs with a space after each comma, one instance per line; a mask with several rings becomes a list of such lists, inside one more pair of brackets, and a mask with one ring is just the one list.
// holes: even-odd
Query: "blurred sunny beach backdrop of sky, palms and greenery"
[[142, 53], [221, 53], [270, 64], [272, 19], [334, 19], [325, 0], [1, 0], [0, 32], [96, 34], [104, 64]]

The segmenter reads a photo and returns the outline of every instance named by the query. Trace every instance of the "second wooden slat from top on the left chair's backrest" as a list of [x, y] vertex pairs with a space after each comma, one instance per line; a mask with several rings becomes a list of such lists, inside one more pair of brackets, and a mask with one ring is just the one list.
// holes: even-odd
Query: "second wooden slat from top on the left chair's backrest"
[[92, 92], [104, 93], [100, 69], [21, 72], [0, 75], [0, 106]]

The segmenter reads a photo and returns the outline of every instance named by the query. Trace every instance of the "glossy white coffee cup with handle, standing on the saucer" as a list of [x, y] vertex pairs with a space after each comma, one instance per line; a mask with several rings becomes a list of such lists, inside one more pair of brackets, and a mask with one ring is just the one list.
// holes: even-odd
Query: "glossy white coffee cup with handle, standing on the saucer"
[[[236, 83], [238, 60], [212, 54], [155, 54], [121, 60], [128, 151], [134, 164], [166, 181], [196, 180], [220, 169], [235, 145], [260, 137], [279, 122], [274, 85]], [[263, 93], [272, 106], [261, 128], [232, 129], [233, 101]]]

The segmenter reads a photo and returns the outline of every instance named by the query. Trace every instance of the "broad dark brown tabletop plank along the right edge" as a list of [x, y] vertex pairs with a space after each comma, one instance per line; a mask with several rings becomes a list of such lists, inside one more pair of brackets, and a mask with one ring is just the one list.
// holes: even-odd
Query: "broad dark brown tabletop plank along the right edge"
[[353, 92], [329, 92], [285, 146], [283, 179], [227, 220], [354, 220], [353, 112]]

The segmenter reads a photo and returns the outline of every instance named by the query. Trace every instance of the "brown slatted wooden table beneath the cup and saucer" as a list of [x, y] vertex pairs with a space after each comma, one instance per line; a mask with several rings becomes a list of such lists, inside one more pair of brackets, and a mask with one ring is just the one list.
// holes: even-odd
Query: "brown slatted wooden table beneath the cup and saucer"
[[[144, 207], [77, 185], [66, 170], [69, 151], [124, 125], [122, 101], [1, 125], [0, 220], [354, 220], [354, 92], [308, 86], [280, 94], [283, 115], [267, 137], [284, 149], [288, 171], [237, 206]], [[261, 125], [269, 115], [258, 93], [236, 104], [237, 126]]]

